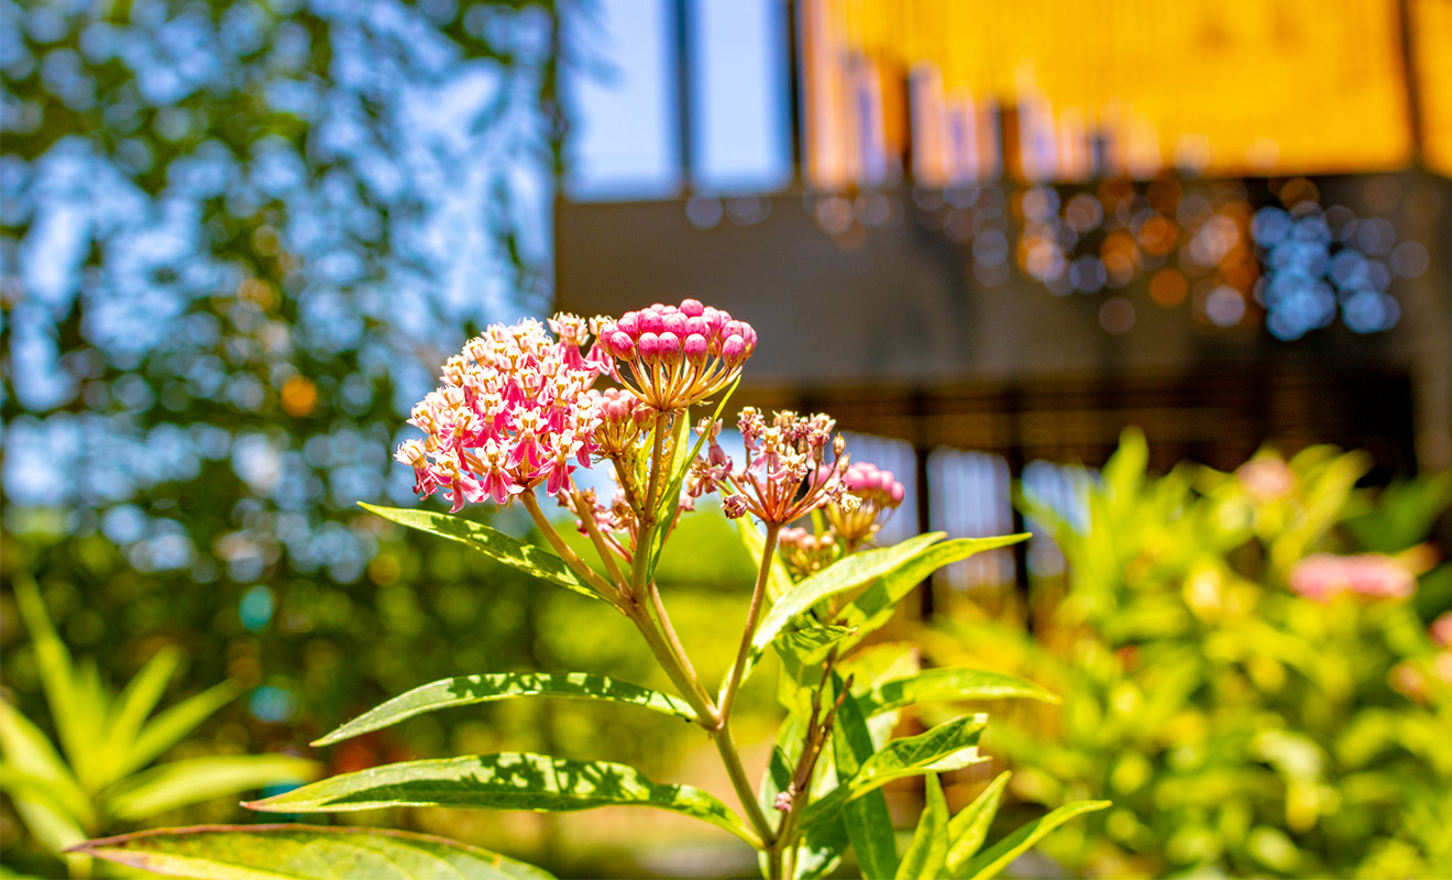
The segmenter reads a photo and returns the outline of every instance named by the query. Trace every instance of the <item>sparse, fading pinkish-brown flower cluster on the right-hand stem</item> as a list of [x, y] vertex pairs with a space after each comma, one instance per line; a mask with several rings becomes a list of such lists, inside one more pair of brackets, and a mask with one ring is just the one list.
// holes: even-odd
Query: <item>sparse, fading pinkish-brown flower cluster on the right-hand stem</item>
[[[717, 443], [720, 424], [703, 423], [710, 431], [707, 457], [691, 463], [690, 495], [722, 491], [722, 510], [730, 518], [752, 514], [762, 523], [790, 523], [819, 507], [838, 504], [857, 508], [857, 497], [847, 491], [842, 475], [848, 460], [842, 455], [841, 434], [833, 440], [836, 423], [820, 412], [797, 415], [775, 412], [767, 420], [752, 407], [738, 420], [746, 446], [746, 465], [732, 468], [732, 460]], [[826, 459], [828, 446], [832, 459]]]

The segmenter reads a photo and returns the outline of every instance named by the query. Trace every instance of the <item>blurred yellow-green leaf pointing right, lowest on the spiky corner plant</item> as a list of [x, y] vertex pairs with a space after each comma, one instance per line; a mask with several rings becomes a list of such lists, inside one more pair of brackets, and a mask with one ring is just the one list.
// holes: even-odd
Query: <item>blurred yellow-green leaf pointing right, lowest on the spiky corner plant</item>
[[106, 799], [106, 809], [116, 819], [136, 822], [224, 794], [305, 783], [317, 775], [318, 765], [314, 761], [292, 755], [224, 755], [171, 761], [116, 786]]

